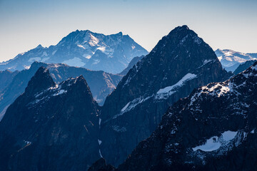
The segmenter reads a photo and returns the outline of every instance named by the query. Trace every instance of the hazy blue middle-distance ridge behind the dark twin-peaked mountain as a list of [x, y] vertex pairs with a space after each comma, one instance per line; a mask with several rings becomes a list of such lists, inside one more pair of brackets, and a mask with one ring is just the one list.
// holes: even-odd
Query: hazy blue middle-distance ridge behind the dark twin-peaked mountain
[[104, 104], [106, 96], [116, 88], [122, 78], [122, 76], [105, 73], [104, 71], [89, 71], [86, 68], [76, 68], [64, 64], [34, 62], [28, 70], [20, 71], [13, 79], [9, 78], [8, 81], [11, 80], [11, 83], [9, 83], [8, 86], [3, 86], [3, 90], [0, 92], [0, 120], [4, 116], [8, 106], [13, 103], [19, 95], [24, 93], [29, 80], [41, 66], [49, 68], [51, 77], [56, 83], [61, 83], [61, 81], [65, 81], [70, 77], [84, 76], [89, 83], [94, 99], [100, 105]]

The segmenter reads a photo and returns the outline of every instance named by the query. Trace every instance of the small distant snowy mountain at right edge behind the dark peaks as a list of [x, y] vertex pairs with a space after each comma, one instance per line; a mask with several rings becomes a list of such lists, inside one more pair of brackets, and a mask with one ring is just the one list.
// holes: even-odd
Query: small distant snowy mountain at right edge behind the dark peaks
[[257, 60], [257, 53], [241, 53], [232, 51], [230, 49], [221, 50], [219, 48], [215, 51], [215, 53], [226, 71], [233, 72], [241, 63], [245, 63], [246, 61], [253, 59]]

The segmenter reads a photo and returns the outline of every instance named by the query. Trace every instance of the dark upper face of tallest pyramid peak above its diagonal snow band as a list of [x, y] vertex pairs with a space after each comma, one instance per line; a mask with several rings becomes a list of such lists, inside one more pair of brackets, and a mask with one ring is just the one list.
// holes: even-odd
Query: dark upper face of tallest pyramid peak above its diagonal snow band
[[[133, 95], [138, 93], [137, 96], [146, 94], [146, 91], [148, 94], [156, 93], [161, 87], [173, 85], [187, 73], [204, 67], [206, 64], [208, 66], [210, 63], [215, 63], [216, 69], [226, 74], [212, 48], [187, 26], [179, 26], [168, 33], [168, 36], [163, 36], [148, 56], [129, 71], [119, 86], [124, 89], [130, 88], [131, 84], [138, 85], [133, 90]], [[145, 70], [146, 68], [148, 69]], [[173, 76], [173, 72], [177, 73], [174, 78], [168, 78], [168, 75]], [[178, 76], [178, 73], [183, 76]], [[139, 83], [138, 80], [144, 83]], [[151, 82], [149, 82], [150, 80]], [[145, 85], [148, 84], [151, 86], [146, 87]], [[116, 90], [112, 95], [115, 93]]]

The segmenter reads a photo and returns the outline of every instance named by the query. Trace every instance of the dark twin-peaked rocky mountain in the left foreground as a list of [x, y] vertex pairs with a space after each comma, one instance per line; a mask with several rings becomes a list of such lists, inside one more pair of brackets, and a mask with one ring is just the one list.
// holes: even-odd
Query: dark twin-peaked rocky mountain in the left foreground
[[99, 106], [83, 76], [39, 68], [0, 123], [0, 170], [86, 170], [99, 154]]

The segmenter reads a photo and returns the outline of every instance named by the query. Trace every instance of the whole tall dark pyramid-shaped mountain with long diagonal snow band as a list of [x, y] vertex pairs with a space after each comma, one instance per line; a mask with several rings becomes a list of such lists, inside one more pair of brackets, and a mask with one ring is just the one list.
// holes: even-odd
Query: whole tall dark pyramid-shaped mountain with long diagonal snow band
[[101, 110], [103, 157], [119, 165], [138, 142], [151, 135], [169, 105], [194, 88], [226, 80], [228, 75], [195, 32], [187, 26], [173, 29], [106, 98]]

